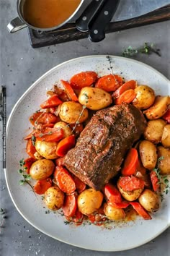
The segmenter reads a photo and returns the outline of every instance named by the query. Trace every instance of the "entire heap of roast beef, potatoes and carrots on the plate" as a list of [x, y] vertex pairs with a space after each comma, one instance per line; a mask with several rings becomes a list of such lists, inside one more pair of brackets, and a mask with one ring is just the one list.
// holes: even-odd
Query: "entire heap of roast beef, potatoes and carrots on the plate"
[[22, 184], [31, 179], [68, 223], [106, 225], [133, 219], [134, 211], [151, 220], [169, 192], [169, 96], [94, 71], [61, 84], [30, 116]]

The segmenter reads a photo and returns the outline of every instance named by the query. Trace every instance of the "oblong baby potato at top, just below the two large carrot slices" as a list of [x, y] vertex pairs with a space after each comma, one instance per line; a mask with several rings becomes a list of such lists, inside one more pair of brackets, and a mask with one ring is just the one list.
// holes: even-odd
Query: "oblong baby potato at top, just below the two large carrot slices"
[[112, 104], [112, 96], [100, 88], [85, 87], [79, 94], [79, 103], [91, 110], [99, 110]]

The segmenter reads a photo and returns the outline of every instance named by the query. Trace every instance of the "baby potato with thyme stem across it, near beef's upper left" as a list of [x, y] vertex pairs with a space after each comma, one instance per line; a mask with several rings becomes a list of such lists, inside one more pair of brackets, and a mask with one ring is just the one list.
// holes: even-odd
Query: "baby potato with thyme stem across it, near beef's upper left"
[[74, 101], [63, 102], [59, 112], [61, 120], [68, 124], [75, 124], [79, 117], [79, 123], [82, 123], [88, 118], [88, 114], [86, 108]]

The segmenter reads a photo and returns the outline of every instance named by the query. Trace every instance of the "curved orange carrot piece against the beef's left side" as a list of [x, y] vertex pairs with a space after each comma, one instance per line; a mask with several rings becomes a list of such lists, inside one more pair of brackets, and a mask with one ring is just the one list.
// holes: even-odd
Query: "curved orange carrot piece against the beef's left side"
[[73, 146], [75, 145], [75, 142], [76, 142], [76, 140], [75, 140], [75, 136], [74, 135], [71, 135], [69, 137], [64, 138], [63, 140], [61, 140], [58, 143], [57, 149], [56, 149], [56, 154], [58, 156], [66, 155], [68, 150], [73, 148]]

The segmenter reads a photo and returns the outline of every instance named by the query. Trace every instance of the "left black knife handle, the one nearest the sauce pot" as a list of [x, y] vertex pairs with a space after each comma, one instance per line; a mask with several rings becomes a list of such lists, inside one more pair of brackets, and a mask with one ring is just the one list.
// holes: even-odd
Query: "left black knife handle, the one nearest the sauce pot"
[[107, 0], [92, 0], [79, 19], [76, 20], [76, 28], [82, 32], [88, 31], [90, 22], [94, 20], [105, 1]]

